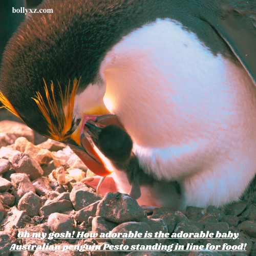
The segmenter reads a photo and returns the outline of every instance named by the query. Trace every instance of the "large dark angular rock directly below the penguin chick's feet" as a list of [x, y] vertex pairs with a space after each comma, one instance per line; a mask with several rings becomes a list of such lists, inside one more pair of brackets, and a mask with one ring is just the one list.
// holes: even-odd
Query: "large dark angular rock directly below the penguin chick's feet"
[[99, 202], [96, 216], [115, 223], [141, 221], [145, 218], [137, 201], [126, 194], [107, 193]]

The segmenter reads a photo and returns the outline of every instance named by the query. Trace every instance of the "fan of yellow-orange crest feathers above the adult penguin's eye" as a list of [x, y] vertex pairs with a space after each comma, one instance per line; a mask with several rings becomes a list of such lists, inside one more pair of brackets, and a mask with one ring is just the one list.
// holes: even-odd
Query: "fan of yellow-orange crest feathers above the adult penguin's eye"
[[64, 94], [62, 93], [60, 84], [58, 84], [61, 105], [57, 105], [56, 103], [53, 82], [51, 82], [51, 88], [48, 90], [45, 80], [46, 102], [39, 92], [36, 93], [35, 98], [32, 98], [45, 117], [50, 134], [48, 137], [53, 140], [65, 141], [70, 136], [68, 132], [72, 128], [74, 101], [79, 82], [80, 79], [74, 79], [73, 88], [71, 88], [69, 81]]

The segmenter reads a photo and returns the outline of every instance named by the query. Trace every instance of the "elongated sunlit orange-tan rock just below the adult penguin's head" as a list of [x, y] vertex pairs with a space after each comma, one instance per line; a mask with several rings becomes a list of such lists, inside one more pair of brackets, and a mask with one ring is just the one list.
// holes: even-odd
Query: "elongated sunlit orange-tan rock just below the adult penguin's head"
[[15, 150], [28, 154], [39, 164], [48, 164], [54, 159], [54, 155], [50, 151], [35, 146], [24, 137], [16, 139], [14, 146]]

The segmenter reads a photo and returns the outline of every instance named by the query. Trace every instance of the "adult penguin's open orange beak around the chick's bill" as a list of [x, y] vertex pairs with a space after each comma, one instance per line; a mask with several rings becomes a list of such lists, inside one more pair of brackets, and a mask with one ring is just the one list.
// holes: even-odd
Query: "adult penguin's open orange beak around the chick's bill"
[[84, 124], [86, 124], [88, 120], [96, 121], [97, 117], [101, 116], [109, 115], [83, 115], [81, 126], [72, 136], [73, 140], [75, 140], [78, 145], [69, 144], [69, 146], [93, 173], [105, 177], [110, 175], [112, 172], [106, 168], [104, 162], [86, 137], [86, 131], [84, 130]]

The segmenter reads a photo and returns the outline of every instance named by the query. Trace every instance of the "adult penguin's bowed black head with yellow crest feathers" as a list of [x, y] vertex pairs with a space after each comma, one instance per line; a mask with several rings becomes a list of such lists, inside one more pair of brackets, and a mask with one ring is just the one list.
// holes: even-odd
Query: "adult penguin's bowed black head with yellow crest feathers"
[[[52, 7], [49, 2], [41, 7]], [[76, 2], [78, 6], [68, 9], [69, 2], [65, 3], [58, 7], [56, 3], [53, 14], [27, 17], [13, 34], [0, 70], [0, 100], [39, 134], [84, 150], [80, 141], [84, 123], [109, 113], [99, 76], [104, 35], [97, 34], [90, 8], [79, 9]], [[109, 174], [104, 168], [102, 172], [98, 174]]]

